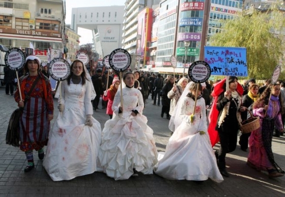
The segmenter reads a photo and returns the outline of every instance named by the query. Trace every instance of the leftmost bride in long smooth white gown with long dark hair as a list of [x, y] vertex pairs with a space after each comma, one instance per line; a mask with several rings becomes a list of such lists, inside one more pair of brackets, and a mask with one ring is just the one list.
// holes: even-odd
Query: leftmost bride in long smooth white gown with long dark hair
[[61, 83], [57, 107], [60, 113], [49, 134], [43, 162], [53, 181], [70, 180], [96, 171], [101, 143], [100, 123], [92, 117], [91, 98], [95, 98], [95, 91], [89, 74], [80, 60], [72, 63], [71, 72]]

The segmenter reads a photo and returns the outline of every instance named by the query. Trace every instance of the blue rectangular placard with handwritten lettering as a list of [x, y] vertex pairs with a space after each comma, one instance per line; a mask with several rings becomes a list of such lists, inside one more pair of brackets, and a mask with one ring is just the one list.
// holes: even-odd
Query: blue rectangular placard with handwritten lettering
[[212, 75], [248, 76], [246, 48], [205, 46], [205, 61]]

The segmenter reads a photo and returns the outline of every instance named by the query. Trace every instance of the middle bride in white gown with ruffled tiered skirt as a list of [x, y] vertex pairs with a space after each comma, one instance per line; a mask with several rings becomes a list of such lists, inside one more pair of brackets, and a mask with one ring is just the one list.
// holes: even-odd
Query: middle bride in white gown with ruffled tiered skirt
[[143, 98], [140, 90], [134, 88], [134, 74], [127, 72], [126, 84], [118, 89], [112, 110], [114, 116], [107, 120], [102, 132], [99, 161], [102, 171], [115, 180], [137, 176], [138, 171], [152, 174], [157, 163], [157, 150], [152, 129], [142, 115]]

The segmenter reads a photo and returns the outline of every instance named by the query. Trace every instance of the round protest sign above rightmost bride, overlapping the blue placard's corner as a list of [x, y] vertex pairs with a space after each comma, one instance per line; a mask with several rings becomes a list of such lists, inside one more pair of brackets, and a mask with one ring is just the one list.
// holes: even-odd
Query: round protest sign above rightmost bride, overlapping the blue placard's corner
[[193, 82], [204, 83], [211, 76], [210, 65], [205, 61], [195, 61], [190, 65], [188, 75]]

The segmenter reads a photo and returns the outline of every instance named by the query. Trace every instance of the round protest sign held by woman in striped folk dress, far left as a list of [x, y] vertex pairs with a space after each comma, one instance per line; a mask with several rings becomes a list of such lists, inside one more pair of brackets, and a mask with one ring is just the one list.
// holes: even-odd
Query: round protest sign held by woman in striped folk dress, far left
[[7, 51], [4, 61], [9, 69], [17, 71], [24, 67], [26, 56], [21, 49], [12, 48]]

